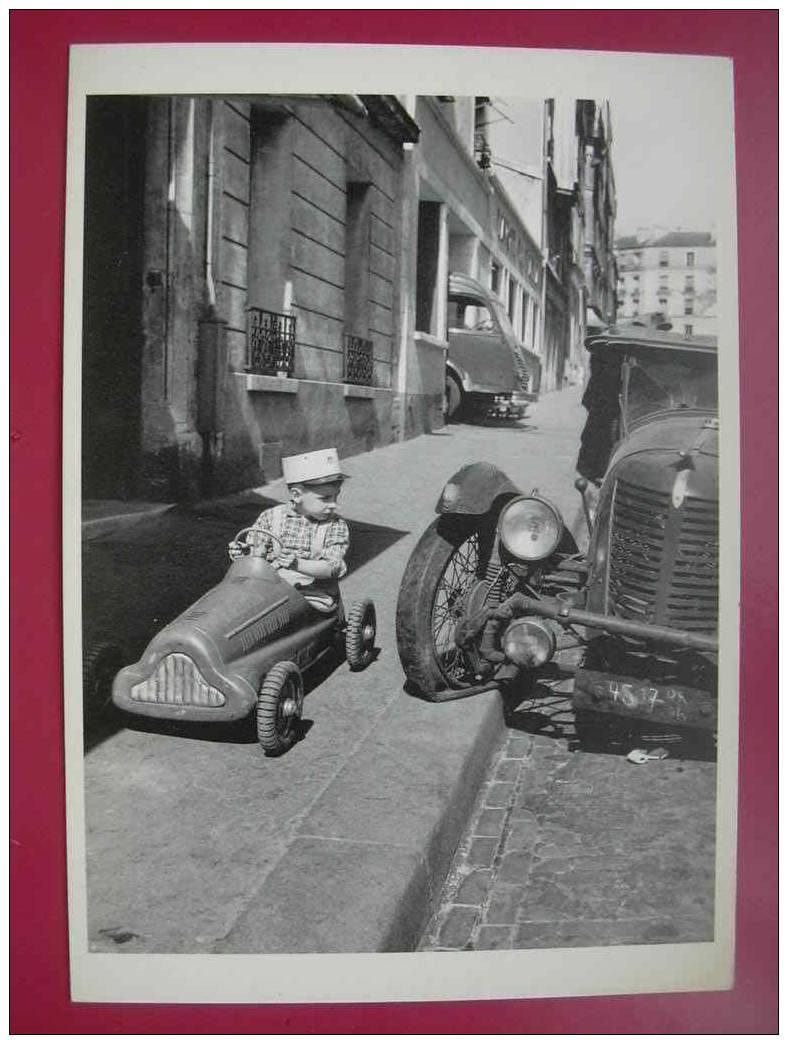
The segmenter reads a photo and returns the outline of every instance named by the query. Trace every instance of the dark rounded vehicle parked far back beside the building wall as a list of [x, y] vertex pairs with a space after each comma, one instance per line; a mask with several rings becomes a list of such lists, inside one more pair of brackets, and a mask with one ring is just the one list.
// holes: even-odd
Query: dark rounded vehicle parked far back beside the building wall
[[538, 390], [539, 359], [517, 340], [503, 301], [468, 275], [449, 275], [447, 419], [523, 417]]

